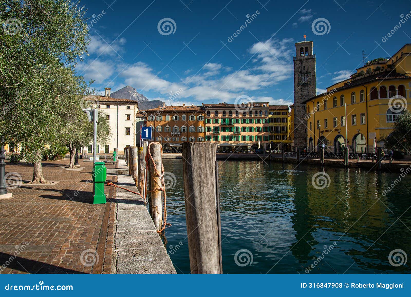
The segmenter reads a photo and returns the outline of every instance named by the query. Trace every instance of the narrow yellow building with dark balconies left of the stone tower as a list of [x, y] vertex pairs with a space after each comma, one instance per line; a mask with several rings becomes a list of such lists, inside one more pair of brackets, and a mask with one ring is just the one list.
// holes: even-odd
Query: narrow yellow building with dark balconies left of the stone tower
[[288, 105], [270, 105], [268, 115], [269, 139], [271, 149], [280, 151], [283, 148], [291, 151], [291, 139], [288, 138]]

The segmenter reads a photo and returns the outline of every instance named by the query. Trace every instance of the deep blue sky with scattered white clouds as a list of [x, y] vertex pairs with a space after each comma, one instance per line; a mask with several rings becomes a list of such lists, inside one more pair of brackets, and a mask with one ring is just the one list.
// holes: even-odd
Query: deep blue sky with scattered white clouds
[[[294, 43], [304, 34], [314, 41], [317, 93], [362, 66], [362, 50], [371, 60], [411, 43], [410, 0], [113, 1], [82, 1], [92, 42], [77, 72], [100, 92], [131, 85], [175, 105], [238, 96], [292, 104]], [[324, 34], [312, 30], [319, 18]]]

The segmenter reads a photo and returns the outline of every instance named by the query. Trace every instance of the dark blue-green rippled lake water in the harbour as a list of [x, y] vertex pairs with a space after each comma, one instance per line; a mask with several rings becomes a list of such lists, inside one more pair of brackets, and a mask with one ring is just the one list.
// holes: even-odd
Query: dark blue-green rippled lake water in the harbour
[[[175, 176], [166, 247], [177, 272], [189, 273], [182, 160], [164, 159], [164, 169]], [[325, 173], [305, 164], [220, 161], [223, 272], [411, 273], [411, 259], [390, 264], [411, 257], [411, 174], [387, 191], [398, 173]]]

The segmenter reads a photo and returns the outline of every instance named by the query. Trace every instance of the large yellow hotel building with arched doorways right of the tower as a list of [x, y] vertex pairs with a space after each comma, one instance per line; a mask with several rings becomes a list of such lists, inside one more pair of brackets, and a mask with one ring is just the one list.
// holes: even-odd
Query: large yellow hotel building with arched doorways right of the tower
[[[309, 98], [307, 104], [308, 151], [338, 153], [343, 145], [357, 153], [374, 153], [381, 137], [388, 136], [404, 109], [411, 110], [411, 44], [389, 59], [375, 59], [347, 80]], [[396, 103], [399, 105], [396, 105]]]

